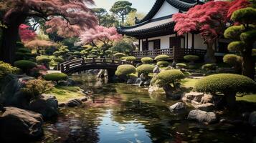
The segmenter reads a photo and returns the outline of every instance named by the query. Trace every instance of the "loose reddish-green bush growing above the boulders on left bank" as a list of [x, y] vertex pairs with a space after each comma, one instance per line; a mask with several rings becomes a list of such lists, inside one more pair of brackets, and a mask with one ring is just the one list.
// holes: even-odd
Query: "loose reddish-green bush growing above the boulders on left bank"
[[22, 92], [27, 94], [30, 99], [39, 97], [39, 95], [49, 92], [53, 87], [51, 82], [44, 81], [42, 79], [34, 79], [25, 82], [25, 87], [22, 88]]

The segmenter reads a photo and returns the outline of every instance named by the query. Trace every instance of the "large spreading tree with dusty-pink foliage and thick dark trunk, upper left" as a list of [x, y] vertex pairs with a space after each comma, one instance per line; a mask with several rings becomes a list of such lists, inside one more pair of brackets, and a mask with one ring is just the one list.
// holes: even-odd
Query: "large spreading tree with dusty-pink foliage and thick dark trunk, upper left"
[[3, 29], [0, 60], [13, 63], [19, 26], [26, 19], [37, 17], [47, 21], [47, 31], [62, 36], [78, 35], [98, 24], [98, 19], [86, 4], [93, 0], [5, 0], [0, 1]]

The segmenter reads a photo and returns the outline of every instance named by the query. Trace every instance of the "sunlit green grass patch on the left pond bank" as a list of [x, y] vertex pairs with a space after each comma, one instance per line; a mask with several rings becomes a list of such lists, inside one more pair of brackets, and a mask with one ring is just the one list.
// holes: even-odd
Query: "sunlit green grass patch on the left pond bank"
[[70, 99], [85, 97], [80, 87], [56, 86], [48, 94], [54, 95], [58, 102], [67, 102]]

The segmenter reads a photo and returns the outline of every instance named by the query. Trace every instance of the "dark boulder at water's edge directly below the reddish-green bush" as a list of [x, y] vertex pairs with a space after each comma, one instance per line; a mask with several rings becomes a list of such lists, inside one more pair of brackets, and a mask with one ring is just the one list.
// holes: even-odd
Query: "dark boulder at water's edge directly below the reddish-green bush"
[[29, 103], [29, 109], [42, 114], [46, 120], [52, 119], [58, 115], [58, 101], [52, 95], [42, 94]]

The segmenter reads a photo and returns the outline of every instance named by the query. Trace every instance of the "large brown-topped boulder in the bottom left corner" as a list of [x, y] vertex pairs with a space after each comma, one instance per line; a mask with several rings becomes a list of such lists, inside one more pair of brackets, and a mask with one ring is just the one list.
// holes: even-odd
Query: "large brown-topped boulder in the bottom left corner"
[[43, 135], [42, 115], [16, 107], [5, 107], [0, 117], [1, 142], [27, 142]]

